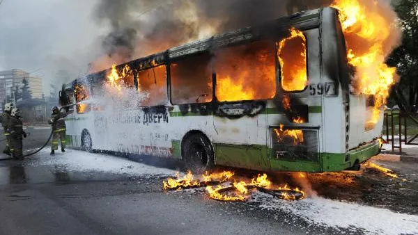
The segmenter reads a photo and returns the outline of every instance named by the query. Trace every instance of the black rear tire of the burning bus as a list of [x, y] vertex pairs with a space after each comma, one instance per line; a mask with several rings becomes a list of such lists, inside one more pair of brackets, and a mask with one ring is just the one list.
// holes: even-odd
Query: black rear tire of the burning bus
[[183, 142], [183, 151], [186, 170], [202, 173], [215, 165], [213, 147], [203, 134], [195, 133]]

